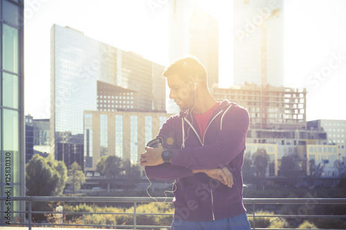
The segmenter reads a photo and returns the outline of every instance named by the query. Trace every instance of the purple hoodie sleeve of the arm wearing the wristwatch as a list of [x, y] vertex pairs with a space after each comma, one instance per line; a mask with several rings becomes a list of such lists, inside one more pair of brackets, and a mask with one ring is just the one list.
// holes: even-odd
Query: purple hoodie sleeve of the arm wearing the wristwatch
[[171, 164], [187, 169], [224, 167], [245, 149], [248, 111], [240, 106], [227, 111], [214, 143], [194, 148], [172, 150]]

